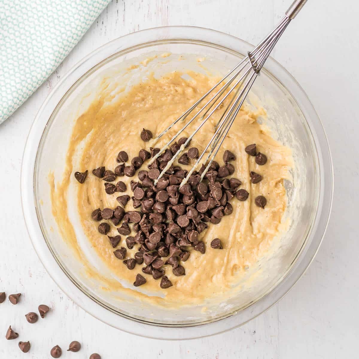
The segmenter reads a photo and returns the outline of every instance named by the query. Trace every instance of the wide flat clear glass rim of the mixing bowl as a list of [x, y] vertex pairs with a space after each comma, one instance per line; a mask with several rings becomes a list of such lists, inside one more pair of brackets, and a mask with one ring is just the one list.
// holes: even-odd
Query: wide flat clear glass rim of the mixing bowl
[[[308, 126], [312, 132], [317, 149], [320, 173], [318, 210], [312, 230], [308, 234], [308, 237], [311, 237], [311, 241], [307, 238], [306, 247], [293, 263], [291, 269], [286, 273], [283, 280], [281, 280], [281, 282], [274, 289], [272, 289], [270, 293], [266, 294], [246, 309], [243, 309], [241, 312], [232, 314], [231, 316], [219, 321], [192, 327], [165, 327], [160, 325], [150, 325], [121, 317], [118, 314], [109, 311], [105, 307], [99, 306], [98, 303], [95, 302], [90, 295], [85, 294], [77, 284], [71, 284], [69, 282], [69, 279], [71, 280], [71, 278], [65, 274], [64, 271], [62, 271], [55, 258], [53, 256], [49, 256], [49, 248], [43, 238], [35, 210], [34, 168], [38, 144], [42, 137], [43, 129], [50, 118], [49, 115], [51, 115], [53, 109], [56, 108], [57, 104], [61, 101], [67, 91], [73, 86], [73, 84], [76, 83], [78, 79], [82, 78], [85, 73], [96, 66], [99, 62], [106, 60], [108, 57], [117, 52], [127, 50], [134, 46], [145, 45], [146, 43], [153, 41], [166, 41], [169, 39], [207, 42], [211, 45], [226, 47], [229, 50], [242, 54], [253, 48], [253, 46], [249, 43], [234, 36], [211, 29], [187, 26], [146, 29], [117, 38], [99, 47], [97, 50], [93, 51], [88, 56], [84, 57], [84, 59], [79, 61], [78, 64], [76, 64], [62, 78], [39, 109], [25, 145], [21, 172], [21, 194], [25, 223], [34, 249], [51, 278], [72, 300], [74, 300], [76, 304], [99, 320], [121, 330], [156, 339], [173, 340], [193, 339], [196, 337], [218, 334], [243, 325], [260, 313], [269, 309], [272, 305], [278, 302], [278, 300], [280, 300], [290, 290], [290, 288], [292, 288], [313, 260], [325, 234], [332, 204], [333, 170], [330, 149], [325, 131], [306, 93], [283, 66], [281, 66], [274, 59], [269, 58], [266, 62], [266, 70], [271, 73], [272, 76], [274, 76], [274, 78], [276, 78], [290, 94], [292, 94], [308, 122]], [[150, 334], [148, 330], [149, 327], [151, 328]], [[130, 330], [126, 330], [124, 328], [130, 328]]]

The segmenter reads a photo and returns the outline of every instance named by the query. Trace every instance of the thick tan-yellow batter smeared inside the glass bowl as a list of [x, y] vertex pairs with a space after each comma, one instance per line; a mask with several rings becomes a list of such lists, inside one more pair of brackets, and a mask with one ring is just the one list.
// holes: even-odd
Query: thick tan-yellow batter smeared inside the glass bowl
[[[155, 298], [158, 304], [164, 306], [203, 303], [205, 299], [224, 295], [231, 285], [238, 282], [245, 270], [266, 254], [273, 239], [279, 238], [280, 232], [285, 230], [282, 218], [286, 209], [287, 197], [283, 179], [289, 178], [288, 170], [292, 164], [290, 149], [272, 139], [265, 126], [257, 123], [257, 117], [265, 115], [264, 110], [258, 109], [257, 112], [251, 112], [248, 109], [241, 110], [216, 156], [216, 160], [220, 165], [223, 164], [223, 152], [226, 149], [236, 154], [237, 159], [232, 162], [236, 172], [230, 177], [236, 177], [242, 181], [239, 188], [246, 189], [250, 193], [248, 199], [240, 202], [233, 198], [230, 201], [233, 213], [224, 216], [217, 225], [210, 224], [209, 228], [201, 233], [200, 238], [206, 244], [206, 253], [202, 255], [194, 251], [193, 248], [189, 248], [190, 258], [183, 264], [186, 270], [185, 276], [174, 276], [172, 267], [164, 266], [165, 274], [173, 283], [172, 287], [160, 289], [160, 279], [154, 280], [152, 276], [142, 273], [141, 267], [144, 264], [136, 265], [134, 270], [127, 269], [122, 260], [118, 260], [113, 255], [114, 249], [107, 236], [100, 234], [97, 230], [99, 222], [92, 220], [90, 215], [96, 208], [116, 208], [118, 205], [116, 197], [119, 195], [132, 196], [130, 181], [137, 181], [137, 174], [131, 178], [117, 177], [114, 183], [120, 180], [125, 182], [127, 192], [115, 192], [113, 195], [107, 195], [104, 191], [104, 181], [93, 176], [92, 169], [105, 166], [106, 169], [113, 171], [117, 165], [116, 157], [120, 150], [127, 151], [130, 162], [133, 157], [138, 155], [140, 149], [149, 150], [150, 146], [161, 147], [167, 143], [169, 138], [183, 126], [183, 123], [175, 126], [158, 143], [153, 140], [143, 142], [140, 139], [140, 132], [146, 128], [151, 130], [155, 137], [217, 81], [215, 78], [197, 73], [189, 73], [191, 76], [189, 80], [184, 80], [181, 75], [181, 73], [173, 72], [161, 79], [151, 78], [132, 87], [130, 92], [119, 99], [117, 103], [112, 103], [111, 106], [104, 105], [103, 97], [93, 102], [75, 123], [63, 180], [56, 186], [52, 184], [51, 190], [53, 214], [62, 234], [79, 251], [73, 224], [67, 214], [67, 190], [70, 182], [76, 182], [75, 171], [83, 172], [86, 169], [89, 171], [83, 184], [76, 182], [81, 225], [98, 256], [116, 275], [128, 280], [133, 289], [122, 289], [121, 285], [111, 282], [108, 282], [108, 287], [114, 289], [116, 286], [116, 290], [130, 291], [134, 296], [145, 300], [154, 300]], [[214, 125], [221, 114], [222, 111], [214, 113], [199, 134], [192, 139], [191, 147], [197, 147], [201, 152], [213, 135]], [[194, 121], [181, 137], [188, 137], [198, 124], [199, 120]], [[244, 148], [252, 143], [256, 143], [257, 150], [267, 156], [268, 161], [265, 165], [257, 165], [255, 157], [245, 153]], [[80, 168], [73, 168], [73, 157], [78, 150], [83, 150]], [[141, 169], [147, 170], [147, 164], [148, 161], [145, 161]], [[181, 166], [187, 169], [191, 167], [190, 165]], [[250, 171], [260, 173], [263, 180], [260, 183], [252, 184]], [[267, 199], [264, 209], [255, 205], [254, 200], [258, 195], [264, 195]], [[126, 211], [133, 210], [132, 201], [128, 202], [125, 209]], [[117, 235], [116, 228], [110, 221], [108, 223], [111, 227], [108, 234]], [[134, 236], [134, 233], [131, 235]], [[223, 250], [210, 247], [210, 242], [216, 237], [221, 239]], [[122, 236], [117, 248], [121, 246], [127, 248], [125, 238]], [[127, 258], [133, 257], [137, 252], [137, 247], [138, 245], [135, 245], [133, 250], [127, 249]], [[147, 283], [139, 288], [132, 287], [137, 273], [147, 279]], [[155, 295], [161, 293], [165, 296], [149, 298], [139, 290], [146, 290]]]

